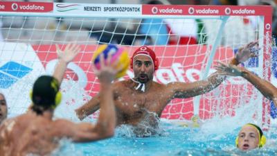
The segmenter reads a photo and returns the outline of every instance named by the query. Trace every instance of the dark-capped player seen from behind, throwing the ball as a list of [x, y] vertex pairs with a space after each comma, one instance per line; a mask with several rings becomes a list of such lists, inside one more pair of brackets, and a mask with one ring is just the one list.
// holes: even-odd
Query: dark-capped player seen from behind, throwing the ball
[[[111, 92], [111, 81], [120, 68], [112, 67], [100, 57], [100, 70], [96, 71], [100, 81], [100, 114], [96, 125], [73, 123], [65, 119], [53, 119], [55, 107], [59, 105], [62, 94], [60, 83], [66, 65], [80, 51], [78, 46], [69, 44], [64, 51], [57, 47], [59, 62], [53, 76], [40, 76], [30, 93], [33, 105], [31, 110], [0, 125], [0, 153], [10, 155], [50, 155], [59, 147], [60, 139], [75, 142], [96, 141], [114, 135], [116, 114]], [[110, 60], [110, 57], [108, 57]]]

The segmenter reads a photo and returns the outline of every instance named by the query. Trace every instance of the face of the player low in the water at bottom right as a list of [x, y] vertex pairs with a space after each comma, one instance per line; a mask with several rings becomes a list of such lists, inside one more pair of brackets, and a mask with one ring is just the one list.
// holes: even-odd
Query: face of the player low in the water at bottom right
[[238, 134], [238, 148], [240, 150], [252, 150], [258, 148], [259, 133], [256, 128], [251, 125], [244, 125]]

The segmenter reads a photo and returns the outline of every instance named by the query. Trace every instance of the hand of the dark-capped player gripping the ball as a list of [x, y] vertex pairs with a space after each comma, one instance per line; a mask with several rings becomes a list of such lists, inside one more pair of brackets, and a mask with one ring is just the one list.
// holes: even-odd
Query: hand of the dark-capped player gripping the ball
[[107, 60], [104, 55], [100, 54], [100, 69], [94, 67], [94, 73], [98, 77], [100, 83], [111, 83], [116, 77], [116, 73], [123, 69], [123, 65], [118, 67], [118, 60], [111, 62], [111, 53], [108, 54]]

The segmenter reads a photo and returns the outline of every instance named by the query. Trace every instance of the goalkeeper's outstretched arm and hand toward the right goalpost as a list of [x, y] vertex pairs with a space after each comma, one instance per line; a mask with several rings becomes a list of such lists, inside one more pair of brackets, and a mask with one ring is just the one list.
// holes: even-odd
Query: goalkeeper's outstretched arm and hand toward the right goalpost
[[[247, 46], [238, 49], [235, 58], [232, 58], [229, 63], [238, 65], [240, 62], [255, 57], [256, 52], [258, 51], [257, 45], [258, 42], [251, 42], [247, 44]], [[211, 76], [208, 76], [206, 80], [199, 80], [194, 83], [170, 83], [168, 84], [168, 88], [171, 94], [173, 94], [171, 95], [171, 98], [190, 98], [210, 92], [212, 89], [215, 89], [215, 87], [220, 85], [225, 78], [226, 76], [222, 76], [220, 71], [216, 71], [211, 74]]]

